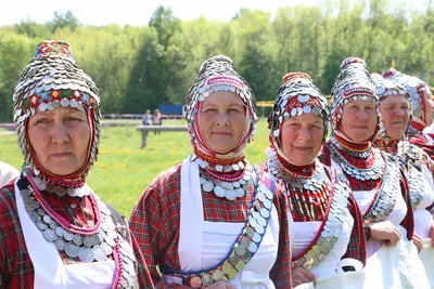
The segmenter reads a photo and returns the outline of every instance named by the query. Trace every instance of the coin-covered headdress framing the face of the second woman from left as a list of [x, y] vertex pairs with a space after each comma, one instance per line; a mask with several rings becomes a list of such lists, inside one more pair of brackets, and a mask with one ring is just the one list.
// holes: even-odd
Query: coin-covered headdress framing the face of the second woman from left
[[[226, 155], [218, 155], [206, 144], [197, 122], [202, 103], [217, 91], [230, 91], [235, 93], [246, 107], [247, 121], [243, 136], [237, 148]], [[191, 144], [196, 155], [217, 159], [231, 159], [242, 155], [245, 144], [253, 137], [256, 117], [256, 98], [242, 78], [231, 58], [225, 55], [216, 55], [205, 61], [201, 68], [186, 101], [186, 118], [189, 124]]]

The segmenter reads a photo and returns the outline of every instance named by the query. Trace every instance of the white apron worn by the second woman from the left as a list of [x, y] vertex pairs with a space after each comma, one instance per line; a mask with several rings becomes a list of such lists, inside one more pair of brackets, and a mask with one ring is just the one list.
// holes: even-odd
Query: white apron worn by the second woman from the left
[[[213, 194], [213, 193], [206, 193]], [[182, 272], [214, 267], [228, 254], [244, 223], [207, 222], [204, 220], [199, 167], [188, 157], [181, 168], [181, 209], [178, 254]], [[242, 289], [268, 288], [279, 247], [279, 219], [272, 206], [270, 220], [260, 246], [233, 279], [228, 283]], [[181, 279], [163, 275], [163, 280], [181, 285]]]

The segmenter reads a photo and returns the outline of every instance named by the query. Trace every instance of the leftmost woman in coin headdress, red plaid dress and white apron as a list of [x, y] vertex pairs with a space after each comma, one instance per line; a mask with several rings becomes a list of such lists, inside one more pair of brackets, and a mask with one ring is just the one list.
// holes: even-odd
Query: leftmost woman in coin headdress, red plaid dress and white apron
[[[44, 41], [14, 93], [25, 166], [0, 189], [2, 288], [152, 288], [125, 220], [86, 183], [100, 98], [64, 41]], [[132, 247], [131, 247], [132, 246]]]

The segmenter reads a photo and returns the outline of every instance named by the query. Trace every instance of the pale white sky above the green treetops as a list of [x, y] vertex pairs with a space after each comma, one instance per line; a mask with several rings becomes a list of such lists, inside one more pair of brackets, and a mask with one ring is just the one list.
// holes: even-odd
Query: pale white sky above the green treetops
[[[270, 13], [278, 8], [306, 4], [316, 5], [324, 0], [2, 0], [0, 26], [18, 24], [31, 19], [43, 24], [52, 21], [54, 12], [71, 10], [84, 25], [119, 26], [148, 25], [158, 5], [170, 6], [174, 15], [182, 21], [195, 19], [200, 15], [207, 19], [231, 19], [241, 8], [263, 10]], [[217, 4], [218, 3], [218, 4]]]

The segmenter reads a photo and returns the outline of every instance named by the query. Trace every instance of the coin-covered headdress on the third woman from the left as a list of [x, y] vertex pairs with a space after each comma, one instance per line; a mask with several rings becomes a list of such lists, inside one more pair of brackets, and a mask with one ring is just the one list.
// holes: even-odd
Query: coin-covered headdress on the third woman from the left
[[309, 75], [288, 73], [268, 117], [269, 137], [275, 148], [282, 148], [280, 134], [283, 121], [303, 114], [314, 114], [323, 119], [326, 141], [330, 120], [326, 95], [312, 83]]

